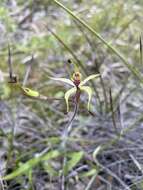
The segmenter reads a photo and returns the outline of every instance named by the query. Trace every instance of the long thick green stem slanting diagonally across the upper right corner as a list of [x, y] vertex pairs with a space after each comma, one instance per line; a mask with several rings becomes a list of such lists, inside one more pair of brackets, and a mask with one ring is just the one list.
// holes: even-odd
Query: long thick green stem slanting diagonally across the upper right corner
[[60, 3], [57, 0], [53, 0], [58, 6], [60, 6], [62, 9], [64, 9], [67, 13], [69, 13], [73, 18], [75, 18], [78, 22], [80, 22], [85, 28], [87, 28], [94, 36], [96, 36], [99, 40], [101, 40], [110, 50], [112, 50], [127, 66], [127, 68], [143, 83], [143, 79], [140, 76], [139, 71], [132, 65], [128, 63], [128, 61], [123, 57], [123, 55], [120, 54], [118, 50], [116, 50], [113, 46], [111, 46], [104, 38], [96, 32], [91, 26], [89, 26], [85, 21], [83, 21], [81, 18], [76, 16], [70, 9], [65, 7], [62, 3]]

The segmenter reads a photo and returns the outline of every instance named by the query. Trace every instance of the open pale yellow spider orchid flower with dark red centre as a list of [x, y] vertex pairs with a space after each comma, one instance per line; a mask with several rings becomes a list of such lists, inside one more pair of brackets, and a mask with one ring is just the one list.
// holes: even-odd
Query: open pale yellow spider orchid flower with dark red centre
[[67, 113], [69, 112], [69, 97], [75, 94], [75, 100], [76, 103], [78, 103], [80, 93], [82, 91], [86, 92], [88, 94], [88, 104], [87, 104], [87, 109], [90, 111], [90, 101], [92, 97], [92, 89], [89, 86], [84, 86], [89, 80], [94, 79], [99, 77], [100, 74], [93, 74], [82, 80], [82, 74], [80, 72], [74, 72], [73, 76], [71, 79], [67, 78], [54, 78], [54, 77], [49, 77], [52, 80], [59, 81], [59, 82], [64, 82], [67, 83], [71, 86], [73, 86], [71, 89], [69, 89], [65, 93], [65, 101], [66, 101], [66, 106], [67, 106]]

